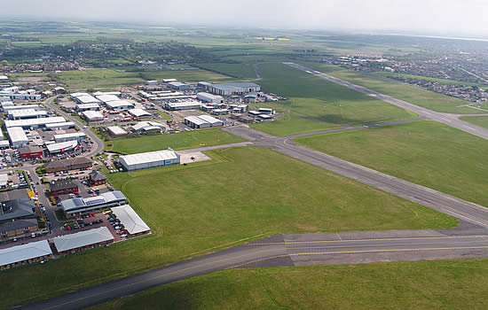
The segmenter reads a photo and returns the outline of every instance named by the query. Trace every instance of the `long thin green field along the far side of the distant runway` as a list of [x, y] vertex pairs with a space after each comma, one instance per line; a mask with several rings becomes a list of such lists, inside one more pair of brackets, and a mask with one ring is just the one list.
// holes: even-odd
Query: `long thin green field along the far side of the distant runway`
[[423, 106], [432, 111], [460, 114], [478, 113], [474, 109], [460, 107], [460, 105], [468, 105], [468, 101], [445, 96], [426, 89], [421, 89], [415, 86], [408, 85], [401, 81], [393, 81], [382, 76], [382, 74], [367, 74], [363, 72], [344, 69], [340, 66], [332, 66], [313, 62], [299, 63], [303, 66], [310, 67], [313, 70], [318, 70], [325, 74], [333, 75], [339, 79], [353, 82], [368, 89], [374, 89], [385, 95], [390, 95], [391, 97], [405, 100], [413, 105]]

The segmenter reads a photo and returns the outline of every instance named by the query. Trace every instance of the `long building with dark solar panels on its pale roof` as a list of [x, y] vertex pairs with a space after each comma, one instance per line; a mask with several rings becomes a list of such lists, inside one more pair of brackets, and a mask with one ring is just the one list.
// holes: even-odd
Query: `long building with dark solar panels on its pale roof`
[[71, 198], [61, 201], [67, 216], [93, 212], [116, 205], [125, 205], [125, 196], [120, 191], [109, 191], [91, 198]]

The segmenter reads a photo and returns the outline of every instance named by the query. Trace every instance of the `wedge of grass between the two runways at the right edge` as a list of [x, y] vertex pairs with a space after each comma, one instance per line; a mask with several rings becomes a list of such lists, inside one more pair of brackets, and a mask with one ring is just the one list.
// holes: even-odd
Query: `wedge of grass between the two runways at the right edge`
[[488, 141], [445, 124], [416, 121], [295, 141], [488, 206]]

